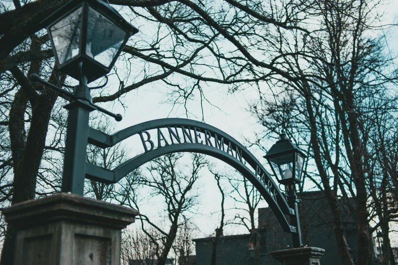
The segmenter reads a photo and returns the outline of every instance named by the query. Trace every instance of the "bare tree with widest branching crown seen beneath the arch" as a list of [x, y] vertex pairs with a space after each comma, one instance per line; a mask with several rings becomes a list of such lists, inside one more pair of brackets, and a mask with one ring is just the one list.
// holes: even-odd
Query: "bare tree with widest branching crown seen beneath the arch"
[[[187, 222], [186, 214], [193, 211], [197, 204], [197, 193], [194, 184], [200, 176], [200, 170], [207, 165], [203, 155], [192, 155], [191, 164], [181, 165], [182, 154], [168, 154], [150, 162], [148, 166], [149, 175], [142, 176], [138, 183], [151, 189], [150, 197], [160, 196], [164, 202], [164, 208], [168, 223], [159, 226], [150, 220], [149, 216], [141, 213], [141, 227], [145, 234], [157, 246], [157, 264], [164, 265], [173, 243], [178, 235], [178, 230]], [[135, 197], [133, 207], [138, 211], [139, 200]], [[146, 225], [154, 227], [159, 231], [160, 239], [151, 237], [146, 231]]]

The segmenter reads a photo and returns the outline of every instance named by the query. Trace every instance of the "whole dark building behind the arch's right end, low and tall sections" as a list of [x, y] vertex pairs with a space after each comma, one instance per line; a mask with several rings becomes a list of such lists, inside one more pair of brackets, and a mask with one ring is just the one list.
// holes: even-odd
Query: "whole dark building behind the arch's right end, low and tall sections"
[[[301, 234], [304, 245], [326, 250], [321, 259], [322, 265], [340, 265], [338, 249], [335, 244], [330, 210], [322, 192], [304, 192], [299, 204]], [[357, 233], [350, 207], [339, 202], [344, 224], [344, 233], [353, 259], [357, 255]], [[284, 233], [269, 208], [258, 209], [259, 255], [264, 265], [279, 265], [269, 254], [291, 246], [291, 235]], [[210, 264], [212, 238], [194, 239], [196, 244], [196, 265]], [[217, 247], [217, 265], [254, 264], [253, 241], [250, 234], [220, 237]], [[185, 264], [184, 264], [185, 265]], [[189, 264], [190, 265], [190, 264]]]

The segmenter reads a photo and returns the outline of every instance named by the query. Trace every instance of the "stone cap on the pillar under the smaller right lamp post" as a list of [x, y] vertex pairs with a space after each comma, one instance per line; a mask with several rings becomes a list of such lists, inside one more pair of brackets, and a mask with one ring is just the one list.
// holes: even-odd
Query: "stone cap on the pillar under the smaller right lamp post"
[[320, 258], [325, 253], [322, 248], [315, 247], [301, 247], [301, 248], [289, 248], [284, 250], [278, 250], [271, 252], [274, 259], [279, 261], [290, 260], [297, 258]]

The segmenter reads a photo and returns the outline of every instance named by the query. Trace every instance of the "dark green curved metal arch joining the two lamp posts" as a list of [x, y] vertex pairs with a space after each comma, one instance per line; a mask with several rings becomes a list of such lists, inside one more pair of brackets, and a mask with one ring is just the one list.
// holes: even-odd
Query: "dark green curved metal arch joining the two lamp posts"
[[[152, 148], [151, 150], [146, 150], [145, 148], [144, 153], [137, 155], [136, 157], [126, 161], [125, 163], [119, 165], [119, 167], [117, 167], [112, 171], [105, 170], [94, 164], [87, 163], [86, 178], [101, 181], [103, 183], [116, 183], [121, 178], [125, 177], [127, 174], [140, 167], [140, 165], [152, 159], [155, 159], [159, 156], [175, 152], [203, 153], [206, 155], [216, 157], [228, 163], [237, 171], [239, 171], [244, 177], [246, 177], [259, 190], [260, 194], [265, 198], [269, 207], [275, 214], [275, 217], [277, 217], [278, 221], [281, 223], [283, 230], [288, 233], [296, 233], [296, 227], [289, 225], [285, 217], [285, 214], [295, 215], [296, 213], [293, 209], [291, 209], [288, 206], [284, 195], [281, 193], [278, 186], [272, 180], [269, 173], [264, 169], [262, 164], [254, 157], [254, 155], [246, 147], [244, 147], [233, 137], [229, 136], [224, 131], [216, 127], [213, 127], [206, 123], [202, 123], [195, 120], [189, 120], [189, 119], [180, 119], [180, 118], [158, 119], [158, 120], [152, 120], [137, 125], [133, 125], [131, 127], [120, 130], [113, 135], [107, 135], [99, 130], [91, 128], [89, 131], [88, 142], [90, 144], [94, 144], [102, 148], [107, 148], [136, 134], [140, 133], [142, 134], [142, 132], [147, 130], [167, 128], [167, 127], [181, 128], [182, 126], [189, 128], [191, 130], [192, 128], [204, 130], [200, 132], [205, 133], [205, 137], [207, 133], [211, 135], [213, 139], [216, 138], [216, 135], [220, 139], [223, 138], [224, 144], [226, 146], [231, 145], [233, 150], [236, 150], [236, 148], [238, 148], [238, 150], [241, 150], [242, 158], [253, 168], [254, 173], [245, 164], [243, 164], [241, 159], [239, 161], [238, 157], [234, 157], [231, 154], [225, 152], [224, 150], [205, 144], [185, 142], [185, 143], [175, 143], [160, 147], [158, 146], [158, 148], [154, 148], [153, 150]], [[262, 179], [259, 179], [260, 176], [262, 176]]]

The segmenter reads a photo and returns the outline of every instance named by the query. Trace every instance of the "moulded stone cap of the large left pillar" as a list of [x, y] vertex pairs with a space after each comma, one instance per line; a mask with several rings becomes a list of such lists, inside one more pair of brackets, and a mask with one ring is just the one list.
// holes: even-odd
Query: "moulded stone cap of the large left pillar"
[[2, 212], [8, 223], [19, 228], [65, 220], [123, 229], [139, 215], [132, 208], [69, 193], [14, 204]]

